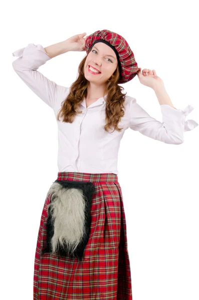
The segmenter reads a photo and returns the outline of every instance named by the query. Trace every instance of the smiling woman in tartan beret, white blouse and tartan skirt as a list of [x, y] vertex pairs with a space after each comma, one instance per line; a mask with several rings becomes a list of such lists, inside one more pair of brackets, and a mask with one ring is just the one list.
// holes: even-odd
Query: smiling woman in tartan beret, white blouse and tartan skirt
[[[58, 176], [44, 203], [34, 269], [34, 299], [132, 299], [130, 262], [117, 153], [130, 127], [180, 144], [193, 109], [173, 107], [155, 70], [137, 67], [127, 41], [109, 30], [85, 33], [43, 48], [29, 44], [13, 53], [13, 67], [50, 107], [58, 124]], [[67, 51], [85, 51], [70, 87], [37, 71]], [[154, 89], [163, 122], [152, 118], [118, 83], [138, 75]]]

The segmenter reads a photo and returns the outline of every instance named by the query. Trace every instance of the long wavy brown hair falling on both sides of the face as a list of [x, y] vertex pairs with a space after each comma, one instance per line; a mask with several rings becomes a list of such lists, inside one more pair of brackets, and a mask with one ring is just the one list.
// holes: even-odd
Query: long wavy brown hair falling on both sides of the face
[[[91, 49], [89, 50], [89, 52]], [[88, 54], [89, 54], [88, 52]], [[79, 104], [82, 102], [83, 97], [87, 96], [87, 86], [89, 81], [84, 76], [84, 64], [88, 54], [82, 59], [79, 64], [78, 71], [79, 76], [76, 81], [73, 82], [70, 88], [70, 93], [65, 100], [62, 101], [61, 108], [57, 115], [57, 120], [63, 117], [63, 122], [72, 123], [77, 113], [82, 113], [82, 110], [78, 110]], [[114, 128], [113, 130], [121, 131], [123, 128], [118, 127], [118, 123], [121, 117], [124, 115], [124, 101], [126, 93], [122, 93], [124, 89], [118, 85], [119, 79], [119, 67], [117, 65], [116, 70], [107, 80], [107, 84], [104, 90], [104, 95], [107, 94], [106, 98], [106, 110], [105, 110], [105, 126], [104, 129], [108, 131], [108, 128]]]

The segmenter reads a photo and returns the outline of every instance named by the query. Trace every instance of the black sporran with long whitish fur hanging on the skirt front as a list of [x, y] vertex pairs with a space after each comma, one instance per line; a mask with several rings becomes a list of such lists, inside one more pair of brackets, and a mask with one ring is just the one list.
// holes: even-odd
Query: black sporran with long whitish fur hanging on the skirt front
[[89, 181], [55, 180], [51, 185], [47, 241], [42, 253], [82, 258], [89, 239], [91, 201], [95, 187]]

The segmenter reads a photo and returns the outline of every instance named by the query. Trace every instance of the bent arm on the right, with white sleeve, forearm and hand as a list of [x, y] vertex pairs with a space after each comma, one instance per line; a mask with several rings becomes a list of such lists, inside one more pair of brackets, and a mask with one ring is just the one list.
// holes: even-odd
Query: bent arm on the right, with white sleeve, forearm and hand
[[[148, 74], [146, 74], [148, 73]], [[137, 72], [140, 83], [151, 87], [158, 98], [162, 113], [162, 122], [150, 116], [136, 101], [130, 97], [129, 101], [129, 127], [140, 133], [163, 141], [165, 143], [179, 144], [184, 141], [184, 131], [192, 130], [198, 123], [192, 119], [185, 120], [186, 116], [193, 110], [187, 105], [183, 110], [173, 106], [160, 77], [155, 70], [141, 68]]]

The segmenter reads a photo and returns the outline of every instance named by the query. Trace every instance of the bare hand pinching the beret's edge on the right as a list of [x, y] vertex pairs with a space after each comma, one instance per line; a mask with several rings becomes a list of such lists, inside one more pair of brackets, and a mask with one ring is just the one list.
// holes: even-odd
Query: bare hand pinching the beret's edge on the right
[[145, 68], [141, 72], [141, 67], [139, 67], [137, 71], [137, 76], [141, 84], [149, 86], [153, 89], [156, 84], [163, 84], [162, 79], [157, 76], [155, 70], [150, 70]]

